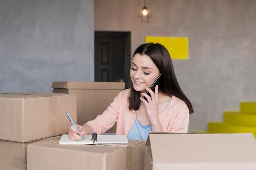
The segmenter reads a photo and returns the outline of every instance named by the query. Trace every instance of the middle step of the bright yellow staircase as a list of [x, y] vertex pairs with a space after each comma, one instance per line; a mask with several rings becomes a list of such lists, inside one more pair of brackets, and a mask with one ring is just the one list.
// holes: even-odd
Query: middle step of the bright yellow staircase
[[225, 111], [224, 123], [236, 126], [256, 126], [256, 114], [241, 114], [239, 111]]

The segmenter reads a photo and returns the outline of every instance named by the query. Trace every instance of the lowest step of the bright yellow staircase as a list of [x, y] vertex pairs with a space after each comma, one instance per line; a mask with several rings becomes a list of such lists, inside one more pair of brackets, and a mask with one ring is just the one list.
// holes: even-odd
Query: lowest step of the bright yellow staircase
[[223, 122], [209, 122], [209, 133], [252, 133], [256, 137], [256, 126], [235, 126]]

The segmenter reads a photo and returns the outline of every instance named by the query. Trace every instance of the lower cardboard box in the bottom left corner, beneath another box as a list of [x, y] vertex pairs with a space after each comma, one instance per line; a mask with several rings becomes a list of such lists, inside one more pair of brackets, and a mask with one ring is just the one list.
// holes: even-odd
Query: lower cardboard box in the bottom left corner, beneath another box
[[27, 145], [59, 138], [61, 136], [26, 143], [0, 140], [0, 169], [27, 170]]

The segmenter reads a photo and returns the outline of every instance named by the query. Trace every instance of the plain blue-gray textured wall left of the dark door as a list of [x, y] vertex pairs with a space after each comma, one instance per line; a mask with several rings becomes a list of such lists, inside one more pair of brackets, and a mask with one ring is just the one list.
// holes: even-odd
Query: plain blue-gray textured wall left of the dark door
[[94, 81], [93, 0], [0, 0], [0, 93]]

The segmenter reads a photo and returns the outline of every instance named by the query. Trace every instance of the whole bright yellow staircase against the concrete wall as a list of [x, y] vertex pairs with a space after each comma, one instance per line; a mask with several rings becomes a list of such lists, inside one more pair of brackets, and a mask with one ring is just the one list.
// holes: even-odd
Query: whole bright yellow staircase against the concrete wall
[[256, 137], [256, 102], [241, 102], [240, 111], [224, 112], [224, 122], [209, 122], [209, 132], [252, 132]]

